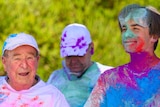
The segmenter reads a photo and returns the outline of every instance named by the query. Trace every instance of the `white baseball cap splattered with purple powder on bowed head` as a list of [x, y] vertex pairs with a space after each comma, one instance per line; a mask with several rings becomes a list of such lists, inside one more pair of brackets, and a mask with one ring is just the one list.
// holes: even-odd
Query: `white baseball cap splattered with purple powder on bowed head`
[[84, 56], [91, 42], [90, 32], [86, 26], [78, 23], [69, 24], [61, 35], [61, 57]]

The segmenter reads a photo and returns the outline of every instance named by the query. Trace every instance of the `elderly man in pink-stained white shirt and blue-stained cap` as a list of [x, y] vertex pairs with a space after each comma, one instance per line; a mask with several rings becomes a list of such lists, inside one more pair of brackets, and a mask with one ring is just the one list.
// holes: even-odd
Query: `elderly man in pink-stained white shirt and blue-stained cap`
[[4, 42], [0, 77], [0, 107], [69, 107], [64, 95], [36, 75], [39, 49], [29, 34], [10, 35]]

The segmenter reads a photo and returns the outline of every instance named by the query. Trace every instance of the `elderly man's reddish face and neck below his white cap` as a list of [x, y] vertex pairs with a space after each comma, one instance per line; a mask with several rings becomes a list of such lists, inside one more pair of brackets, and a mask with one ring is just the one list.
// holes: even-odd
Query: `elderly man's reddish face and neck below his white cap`
[[34, 85], [39, 60], [36, 49], [23, 45], [6, 52], [2, 62], [12, 88], [21, 90], [21, 87], [28, 89]]

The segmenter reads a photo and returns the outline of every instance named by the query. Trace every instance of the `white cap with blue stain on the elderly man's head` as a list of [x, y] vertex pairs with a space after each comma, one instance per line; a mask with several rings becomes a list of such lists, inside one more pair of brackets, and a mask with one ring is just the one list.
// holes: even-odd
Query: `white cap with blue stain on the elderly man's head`
[[22, 45], [32, 46], [39, 53], [39, 48], [34, 37], [29, 34], [19, 33], [19, 34], [11, 34], [8, 36], [3, 45], [2, 55], [4, 54], [5, 50], [13, 50]]

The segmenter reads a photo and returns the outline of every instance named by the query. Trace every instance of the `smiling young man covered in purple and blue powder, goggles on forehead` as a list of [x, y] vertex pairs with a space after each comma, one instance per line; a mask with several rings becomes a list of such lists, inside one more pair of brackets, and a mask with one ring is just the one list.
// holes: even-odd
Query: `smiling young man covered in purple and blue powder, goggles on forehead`
[[84, 107], [160, 107], [160, 14], [130, 4], [118, 19], [130, 62], [101, 74]]

